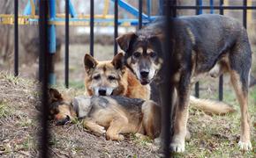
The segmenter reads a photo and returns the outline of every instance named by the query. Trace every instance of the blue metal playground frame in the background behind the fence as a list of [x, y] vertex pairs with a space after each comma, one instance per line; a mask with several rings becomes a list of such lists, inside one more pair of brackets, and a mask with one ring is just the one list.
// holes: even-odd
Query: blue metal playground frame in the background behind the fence
[[[71, 18], [69, 18], [70, 22], [90, 22], [91, 18], [78, 18], [78, 13], [75, 10], [72, 1], [67, 0], [69, 2], [69, 13], [71, 15]], [[132, 6], [131, 4], [128, 4], [124, 0], [110, 0], [112, 3], [117, 3], [117, 5], [124, 9], [124, 11], [127, 11], [131, 15], [133, 15], [135, 18], [122, 18], [117, 19], [117, 25], [122, 25], [123, 23], [130, 23], [130, 25], [139, 25], [139, 10]], [[40, 2], [40, 0], [34, 0], [35, 2]], [[141, 3], [141, 2], [140, 2]], [[209, 0], [210, 3], [210, 13], [214, 13], [214, 0]], [[158, 16], [163, 15], [163, 11], [161, 10], [163, 8], [163, 1], [159, 1], [159, 11]], [[197, 5], [199, 8], [197, 9], [197, 14], [203, 13], [203, 0], [197, 0]], [[151, 16], [151, 7], [152, 7], [152, 0], [147, 0], [147, 14], [141, 13], [141, 25], [147, 25], [147, 23], [153, 21], [158, 16]], [[26, 4], [26, 8], [23, 12], [24, 15], [29, 16], [32, 15], [32, 6], [30, 0], [28, 0]], [[29, 22], [38, 23], [38, 18], [29, 18]], [[57, 18], [56, 17], [56, 0], [49, 0], [49, 23], [51, 22], [65, 22], [65, 18]], [[113, 22], [114, 18], [94, 18], [94, 23], [109, 23]], [[50, 24], [49, 25], [49, 54], [55, 54], [56, 53], [56, 25]], [[50, 84], [56, 84], [56, 75], [52, 72], [49, 73], [49, 83]], [[199, 84], [198, 84], [199, 85]], [[199, 89], [199, 88], [198, 88]], [[198, 91], [198, 90], [197, 90]]]

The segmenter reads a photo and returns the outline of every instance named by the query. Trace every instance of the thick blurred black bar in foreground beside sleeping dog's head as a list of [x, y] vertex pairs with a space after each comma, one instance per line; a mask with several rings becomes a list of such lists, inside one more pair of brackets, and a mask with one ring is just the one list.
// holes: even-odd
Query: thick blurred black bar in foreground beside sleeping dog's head
[[48, 45], [48, 1], [40, 1], [39, 35], [41, 54], [41, 133], [39, 135], [40, 157], [49, 157], [49, 104], [48, 104], [48, 79], [49, 79], [49, 45]]

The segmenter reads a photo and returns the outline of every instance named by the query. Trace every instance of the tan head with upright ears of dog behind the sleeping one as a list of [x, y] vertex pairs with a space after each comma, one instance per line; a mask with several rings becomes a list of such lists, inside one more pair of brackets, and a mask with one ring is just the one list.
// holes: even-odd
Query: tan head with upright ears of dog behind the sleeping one
[[89, 54], [85, 55], [85, 86], [89, 95], [110, 96], [120, 94], [120, 82], [125, 72], [124, 54], [117, 54], [112, 61], [96, 61]]

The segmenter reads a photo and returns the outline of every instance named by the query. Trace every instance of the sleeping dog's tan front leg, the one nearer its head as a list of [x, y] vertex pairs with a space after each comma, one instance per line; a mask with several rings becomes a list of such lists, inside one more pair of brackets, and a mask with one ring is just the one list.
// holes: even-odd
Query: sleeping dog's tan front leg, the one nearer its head
[[104, 134], [106, 133], [106, 130], [103, 126], [99, 126], [94, 122], [92, 118], [85, 118], [83, 120], [84, 127], [86, 127], [88, 130], [92, 131], [95, 134]]

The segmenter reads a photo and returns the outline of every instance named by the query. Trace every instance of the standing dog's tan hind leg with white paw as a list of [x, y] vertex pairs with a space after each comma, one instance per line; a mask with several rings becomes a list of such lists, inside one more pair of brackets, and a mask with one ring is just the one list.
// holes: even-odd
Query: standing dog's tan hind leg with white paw
[[236, 71], [231, 70], [230, 72], [231, 83], [236, 91], [237, 100], [240, 104], [241, 109], [241, 135], [238, 146], [242, 150], [250, 150], [252, 144], [250, 141], [250, 120], [248, 113], [248, 91], [243, 90], [240, 76]]

